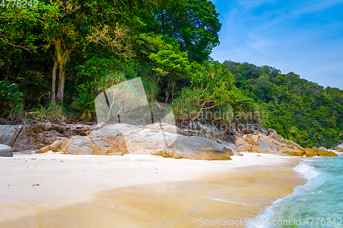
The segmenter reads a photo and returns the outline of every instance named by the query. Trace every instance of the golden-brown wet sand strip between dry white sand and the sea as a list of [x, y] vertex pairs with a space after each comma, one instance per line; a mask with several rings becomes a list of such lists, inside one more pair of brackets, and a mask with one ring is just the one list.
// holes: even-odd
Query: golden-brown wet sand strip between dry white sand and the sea
[[[0, 227], [230, 227], [223, 221], [254, 218], [305, 184], [292, 170], [298, 161], [294, 157], [276, 165], [114, 188], [82, 203], [53, 210], [35, 208], [31, 216], [2, 220]], [[205, 220], [222, 224], [209, 226]]]

